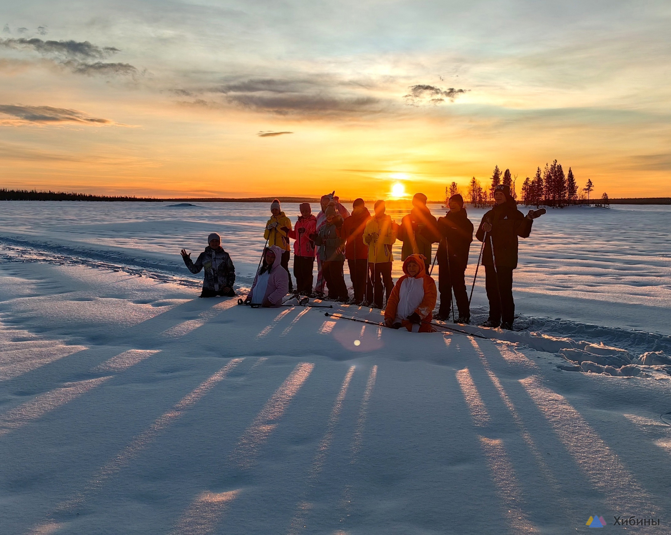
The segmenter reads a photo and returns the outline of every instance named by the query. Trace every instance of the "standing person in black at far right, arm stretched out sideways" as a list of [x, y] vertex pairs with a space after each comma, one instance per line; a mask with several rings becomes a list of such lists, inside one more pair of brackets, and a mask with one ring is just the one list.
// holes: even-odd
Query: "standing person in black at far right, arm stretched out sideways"
[[489, 318], [482, 326], [501, 325], [503, 329], [512, 329], [515, 318], [513, 270], [517, 268], [517, 238], [529, 237], [533, 210], [529, 210], [526, 217], [517, 210], [517, 203], [510, 196], [510, 186], [505, 184], [496, 187], [494, 200], [496, 204], [482, 217], [476, 233], [476, 238], [484, 242], [482, 265], [489, 300]]

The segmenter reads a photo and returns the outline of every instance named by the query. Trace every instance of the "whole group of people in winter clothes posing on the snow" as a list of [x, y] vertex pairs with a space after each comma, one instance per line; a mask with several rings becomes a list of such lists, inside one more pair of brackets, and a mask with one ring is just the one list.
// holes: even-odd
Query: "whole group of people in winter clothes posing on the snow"
[[[517, 267], [519, 237], [528, 237], [533, 211], [525, 216], [517, 210], [509, 186], [501, 184], [494, 192], [495, 204], [478, 227], [476, 238], [482, 242], [482, 264], [489, 301], [489, 316], [484, 326], [512, 329], [515, 315], [513, 270]], [[270, 205], [266, 223], [266, 246], [254, 284], [246, 302], [259, 306], [280, 306], [287, 294], [336, 300], [349, 304], [384, 308], [384, 322], [408, 331], [431, 331], [431, 319], [446, 320], [456, 300], [459, 323], [470, 322], [470, 300], [464, 272], [468, 264], [474, 227], [456, 194], [448, 201], [449, 211], [436, 219], [427, 207], [427, 197], [417, 193], [413, 209], [400, 224], [386, 215], [384, 200], [374, 204], [371, 215], [364, 200], [352, 204], [352, 213], [340, 203], [335, 192], [321, 197], [321, 211], [312, 214], [307, 202], [300, 205], [301, 215], [294, 227], [282, 211], [279, 200]], [[289, 273], [293, 243], [296, 287]], [[394, 284], [392, 247], [403, 242], [403, 276]], [[221, 248], [221, 237], [212, 233], [208, 247], [193, 262], [187, 251], [181, 253], [187, 268], [197, 274], [205, 269], [201, 297], [234, 296], [235, 268]], [[437, 251], [440, 308], [433, 271], [433, 243]], [[317, 281], [313, 287], [317, 259]], [[347, 260], [354, 296], [350, 298], [344, 279]], [[453, 316], [454, 316], [454, 312]]]

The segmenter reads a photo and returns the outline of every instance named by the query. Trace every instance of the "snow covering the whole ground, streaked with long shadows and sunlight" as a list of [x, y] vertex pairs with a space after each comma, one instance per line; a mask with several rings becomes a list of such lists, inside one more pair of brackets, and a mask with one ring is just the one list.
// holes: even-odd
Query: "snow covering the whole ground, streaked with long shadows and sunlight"
[[519, 330], [425, 335], [197, 299], [179, 249], [244, 293], [266, 209], [3, 203], [3, 535], [669, 532], [668, 207], [548, 211]]

